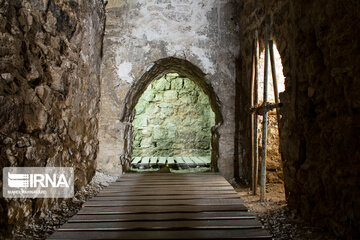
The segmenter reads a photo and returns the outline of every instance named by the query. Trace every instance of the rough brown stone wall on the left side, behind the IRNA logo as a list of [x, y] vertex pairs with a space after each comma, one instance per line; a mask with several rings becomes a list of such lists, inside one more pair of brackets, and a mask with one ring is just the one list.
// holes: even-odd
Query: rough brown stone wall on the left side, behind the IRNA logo
[[[1, 169], [73, 167], [75, 191], [91, 180], [104, 21], [102, 1], [0, 1]], [[1, 198], [0, 238], [67, 201]]]

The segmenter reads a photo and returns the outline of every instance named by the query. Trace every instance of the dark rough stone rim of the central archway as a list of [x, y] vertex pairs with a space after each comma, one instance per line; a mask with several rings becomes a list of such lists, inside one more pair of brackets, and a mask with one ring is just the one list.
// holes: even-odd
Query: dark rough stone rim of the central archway
[[131, 86], [125, 97], [125, 103], [120, 113], [120, 121], [126, 126], [124, 131], [124, 153], [120, 156], [123, 169], [125, 171], [129, 169], [129, 163], [131, 160], [133, 139], [132, 120], [135, 116], [135, 106], [147, 86], [154, 79], [171, 72], [178, 73], [179, 75], [191, 79], [209, 97], [211, 108], [215, 113], [215, 126], [211, 129], [211, 169], [213, 171], [217, 171], [217, 160], [219, 156], [219, 132], [217, 129], [223, 122], [223, 117], [220, 111], [220, 101], [212, 86], [206, 82], [205, 74], [197, 66], [187, 60], [174, 57], [163, 58], [154, 62], [150, 67], [148, 67], [148, 71], [146, 71], [141, 78]]

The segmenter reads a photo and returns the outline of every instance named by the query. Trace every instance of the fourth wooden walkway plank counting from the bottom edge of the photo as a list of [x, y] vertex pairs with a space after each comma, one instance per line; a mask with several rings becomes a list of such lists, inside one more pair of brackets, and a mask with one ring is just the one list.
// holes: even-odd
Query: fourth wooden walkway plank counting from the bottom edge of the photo
[[166, 212], [216, 212], [216, 211], [247, 211], [243, 204], [231, 206], [116, 206], [116, 207], [85, 207], [78, 214], [128, 214], [128, 213], [166, 213]]

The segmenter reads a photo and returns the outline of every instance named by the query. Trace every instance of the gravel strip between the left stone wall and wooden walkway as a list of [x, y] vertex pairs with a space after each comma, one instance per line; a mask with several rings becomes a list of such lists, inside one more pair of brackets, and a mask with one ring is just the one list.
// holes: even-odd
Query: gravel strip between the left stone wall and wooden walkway
[[62, 203], [58, 210], [51, 210], [46, 214], [42, 214], [41, 219], [27, 226], [26, 231], [15, 232], [15, 239], [45, 239], [74, 216], [81, 209], [84, 202], [95, 196], [109, 183], [115, 182], [117, 178], [118, 176], [96, 172], [91, 182], [75, 194], [70, 204]]

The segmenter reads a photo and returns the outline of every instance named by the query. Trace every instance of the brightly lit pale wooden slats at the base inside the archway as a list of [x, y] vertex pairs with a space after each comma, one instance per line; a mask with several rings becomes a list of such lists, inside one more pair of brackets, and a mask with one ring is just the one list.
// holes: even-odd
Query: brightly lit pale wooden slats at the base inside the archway
[[135, 157], [131, 161], [134, 169], [158, 168], [166, 165], [174, 169], [188, 169], [189, 167], [210, 167], [209, 157]]

